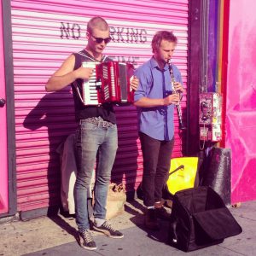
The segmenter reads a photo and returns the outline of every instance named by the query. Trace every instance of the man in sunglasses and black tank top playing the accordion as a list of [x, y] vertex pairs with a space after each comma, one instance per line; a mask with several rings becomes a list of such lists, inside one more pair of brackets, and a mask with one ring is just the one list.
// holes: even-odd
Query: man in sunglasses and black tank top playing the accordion
[[[75, 154], [77, 161], [77, 177], [74, 186], [76, 223], [79, 230], [79, 244], [88, 250], [95, 250], [96, 243], [90, 234], [87, 197], [90, 180], [94, 170], [96, 156], [98, 159], [95, 183], [95, 206], [93, 229], [101, 231], [109, 237], [122, 238], [123, 234], [114, 230], [106, 221], [106, 203], [108, 184], [113, 161], [118, 148], [116, 117], [113, 105], [84, 106], [79, 98], [84, 80], [90, 79], [93, 69], [83, 67], [82, 62], [111, 61], [102, 54], [110, 42], [109, 27], [102, 17], [94, 17], [87, 24], [86, 37], [88, 43], [79, 53], [73, 53], [61, 67], [51, 76], [45, 86], [47, 91], [61, 90], [72, 84], [76, 120], [79, 122], [76, 131]], [[132, 79], [131, 87], [137, 90], [138, 80]]]

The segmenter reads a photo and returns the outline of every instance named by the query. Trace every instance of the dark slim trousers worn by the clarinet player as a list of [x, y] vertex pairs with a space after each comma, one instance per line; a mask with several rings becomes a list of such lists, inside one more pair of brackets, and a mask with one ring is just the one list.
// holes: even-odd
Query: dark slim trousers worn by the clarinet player
[[162, 189], [171, 166], [174, 138], [160, 141], [139, 132], [143, 151], [143, 203], [153, 207], [161, 201]]

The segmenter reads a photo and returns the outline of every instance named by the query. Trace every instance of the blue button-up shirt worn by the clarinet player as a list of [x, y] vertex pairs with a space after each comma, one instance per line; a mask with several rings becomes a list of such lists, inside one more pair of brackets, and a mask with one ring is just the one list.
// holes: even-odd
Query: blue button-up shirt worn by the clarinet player
[[[175, 80], [182, 83], [181, 73], [177, 67], [172, 65], [172, 69]], [[139, 79], [139, 86], [134, 95], [135, 102], [142, 97], [162, 99], [172, 94], [168, 64], [160, 70], [157, 62], [152, 57], [137, 68], [135, 75]], [[161, 141], [172, 140], [174, 136], [173, 109], [173, 104], [153, 108], [137, 108], [139, 131]]]

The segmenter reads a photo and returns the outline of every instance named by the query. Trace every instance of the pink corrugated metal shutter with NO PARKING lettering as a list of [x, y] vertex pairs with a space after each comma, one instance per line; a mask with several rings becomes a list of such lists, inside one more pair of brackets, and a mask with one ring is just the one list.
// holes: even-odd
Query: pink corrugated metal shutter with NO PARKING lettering
[[[108, 20], [113, 41], [105, 53], [116, 61], [133, 61], [136, 67], [152, 55], [154, 32], [174, 31], [179, 41], [173, 62], [186, 88], [188, 0], [13, 0], [11, 6], [18, 209], [27, 211], [59, 203], [61, 173], [55, 148], [75, 128], [73, 98], [70, 88], [46, 94], [44, 84], [67, 55], [84, 48], [87, 21], [95, 15]], [[186, 95], [182, 107], [185, 111]], [[131, 191], [143, 171], [137, 112], [131, 106], [116, 108], [116, 113], [119, 151], [113, 180], [124, 180]], [[177, 134], [173, 156], [182, 155], [184, 142]]]

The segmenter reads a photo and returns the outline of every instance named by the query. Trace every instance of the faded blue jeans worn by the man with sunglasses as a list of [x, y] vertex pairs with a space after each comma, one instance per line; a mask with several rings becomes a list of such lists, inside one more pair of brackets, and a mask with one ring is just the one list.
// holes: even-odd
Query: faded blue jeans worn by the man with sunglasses
[[95, 218], [106, 218], [108, 185], [113, 161], [118, 148], [117, 126], [102, 127], [80, 120], [76, 131], [77, 178], [74, 185], [76, 223], [79, 231], [90, 228], [87, 208], [87, 191], [90, 187], [92, 172], [96, 163]]

